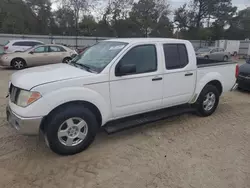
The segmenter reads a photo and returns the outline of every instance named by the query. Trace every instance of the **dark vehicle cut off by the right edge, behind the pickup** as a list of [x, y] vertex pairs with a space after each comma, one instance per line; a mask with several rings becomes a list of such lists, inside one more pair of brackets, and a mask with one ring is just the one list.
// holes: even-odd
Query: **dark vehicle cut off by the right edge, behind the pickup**
[[239, 68], [239, 76], [237, 78], [238, 88], [250, 91], [250, 58]]

